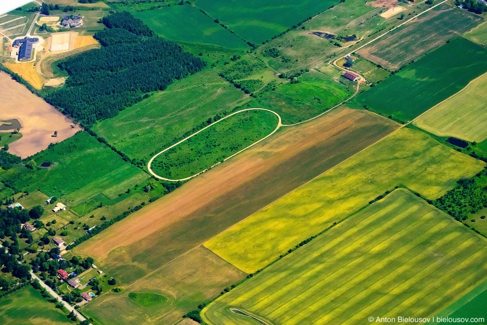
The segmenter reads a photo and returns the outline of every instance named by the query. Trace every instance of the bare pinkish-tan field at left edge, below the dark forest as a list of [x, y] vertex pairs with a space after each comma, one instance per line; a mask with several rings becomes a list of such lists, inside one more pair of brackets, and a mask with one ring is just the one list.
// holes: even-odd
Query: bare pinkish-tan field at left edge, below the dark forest
[[[60, 142], [80, 131], [73, 122], [54, 107], [31, 93], [25, 86], [0, 72], [0, 103], [3, 120], [17, 119], [22, 125], [23, 137], [10, 145], [9, 152], [22, 158], [47, 148], [51, 142]], [[51, 137], [57, 131], [57, 137]]]

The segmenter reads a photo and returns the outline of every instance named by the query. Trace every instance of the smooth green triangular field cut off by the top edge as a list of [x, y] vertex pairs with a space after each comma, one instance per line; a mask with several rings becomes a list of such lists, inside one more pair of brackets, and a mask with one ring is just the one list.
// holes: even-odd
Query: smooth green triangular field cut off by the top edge
[[260, 44], [337, 3], [333, 0], [284, 0], [266, 3], [257, 0], [197, 0], [196, 6], [212, 18], [219, 19], [243, 39]]

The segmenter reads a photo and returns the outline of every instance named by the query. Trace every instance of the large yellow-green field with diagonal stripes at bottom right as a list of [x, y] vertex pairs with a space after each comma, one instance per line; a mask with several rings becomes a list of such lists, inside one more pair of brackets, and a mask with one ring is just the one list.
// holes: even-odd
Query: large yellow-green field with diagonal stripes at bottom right
[[210, 325], [250, 324], [230, 306], [282, 325], [434, 317], [487, 279], [486, 253], [483, 237], [397, 189], [202, 314]]

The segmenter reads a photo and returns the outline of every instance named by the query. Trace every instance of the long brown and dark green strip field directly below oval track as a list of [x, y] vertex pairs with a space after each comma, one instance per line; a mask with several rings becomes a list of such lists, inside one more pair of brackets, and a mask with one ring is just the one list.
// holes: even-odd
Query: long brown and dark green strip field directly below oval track
[[343, 108], [284, 128], [117, 222], [76, 247], [75, 252], [92, 256], [120, 281], [133, 282], [397, 127], [395, 122], [367, 111]]

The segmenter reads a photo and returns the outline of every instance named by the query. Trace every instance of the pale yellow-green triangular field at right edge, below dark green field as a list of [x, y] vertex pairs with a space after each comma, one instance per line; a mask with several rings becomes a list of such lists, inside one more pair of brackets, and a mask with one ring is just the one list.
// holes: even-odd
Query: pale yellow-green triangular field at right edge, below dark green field
[[481, 142], [487, 138], [487, 74], [414, 121], [442, 137]]

